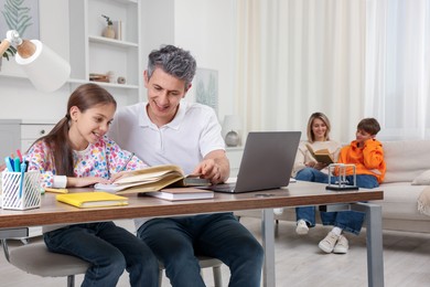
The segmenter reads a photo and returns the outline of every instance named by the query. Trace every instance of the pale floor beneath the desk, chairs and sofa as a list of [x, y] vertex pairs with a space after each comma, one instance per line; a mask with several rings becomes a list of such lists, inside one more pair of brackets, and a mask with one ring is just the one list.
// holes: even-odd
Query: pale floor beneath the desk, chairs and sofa
[[[241, 219], [258, 240], [260, 221]], [[125, 222], [126, 225], [129, 222]], [[316, 226], [305, 236], [294, 232], [294, 224], [280, 222], [276, 225], [276, 283], [277, 286], [367, 286], [366, 234], [346, 235], [350, 240], [350, 252], [346, 255], [324, 254], [318, 243], [330, 228]], [[20, 244], [20, 243], [14, 243]], [[13, 247], [13, 246], [12, 246]], [[384, 270], [385, 286], [430, 286], [430, 234], [384, 232]], [[203, 269], [207, 286], [213, 286], [211, 269]], [[24, 274], [8, 264], [0, 256], [0, 286], [65, 286], [65, 278], [41, 278]], [[229, 272], [223, 265], [223, 286], [228, 286]], [[77, 276], [79, 286], [82, 276]], [[118, 286], [129, 286], [128, 276], [123, 274]], [[171, 286], [164, 277], [163, 287]]]

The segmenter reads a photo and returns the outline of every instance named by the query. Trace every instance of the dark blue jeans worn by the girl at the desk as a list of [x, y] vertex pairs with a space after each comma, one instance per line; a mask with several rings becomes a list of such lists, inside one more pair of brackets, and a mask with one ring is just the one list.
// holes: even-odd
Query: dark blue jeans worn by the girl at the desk
[[151, 249], [112, 222], [75, 224], [44, 234], [51, 252], [77, 256], [92, 264], [82, 286], [116, 286], [123, 269], [130, 286], [159, 285], [159, 264]]

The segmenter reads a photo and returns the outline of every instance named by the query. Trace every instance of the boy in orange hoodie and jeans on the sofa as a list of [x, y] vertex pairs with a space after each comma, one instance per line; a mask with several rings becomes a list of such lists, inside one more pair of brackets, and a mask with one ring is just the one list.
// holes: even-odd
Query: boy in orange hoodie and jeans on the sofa
[[[383, 182], [386, 163], [384, 161], [383, 145], [375, 139], [380, 130], [379, 124], [374, 118], [365, 118], [358, 123], [356, 139], [350, 146], [344, 147], [338, 156], [338, 163], [353, 163], [356, 171], [356, 185], [358, 188], [373, 189]], [[346, 180], [353, 184], [352, 170], [346, 171]], [[343, 231], [358, 235], [364, 222], [364, 213], [357, 211], [321, 212], [324, 225], [334, 225], [319, 247], [325, 253], [345, 254], [348, 251], [348, 242]]]

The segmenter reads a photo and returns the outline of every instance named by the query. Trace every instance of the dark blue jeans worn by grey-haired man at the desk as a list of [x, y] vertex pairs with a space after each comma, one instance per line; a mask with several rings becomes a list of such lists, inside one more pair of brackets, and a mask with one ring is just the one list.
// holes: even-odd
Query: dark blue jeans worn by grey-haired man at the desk
[[233, 213], [153, 219], [138, 230], [164, 264], [173, 287], [205, 286], [195, 254], [216, 257], [232, 273], [230, 287], [259, 287], [264, 249]]

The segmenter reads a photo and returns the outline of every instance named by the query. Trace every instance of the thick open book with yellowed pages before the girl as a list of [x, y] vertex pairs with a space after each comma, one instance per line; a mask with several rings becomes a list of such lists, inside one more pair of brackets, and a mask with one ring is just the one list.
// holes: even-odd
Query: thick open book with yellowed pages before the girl
[[204, 187], [211, 185], [198, 174], [185, 176], [182, 169], [174, 164], [163, 164], [140, 170], [132, 170], [112, 184], [97, 183], [96, 190], [117, 192], [120, 194], [158, 191], [168, 187]]

